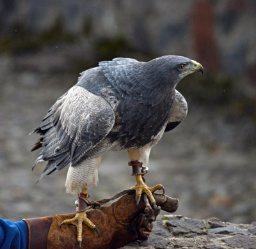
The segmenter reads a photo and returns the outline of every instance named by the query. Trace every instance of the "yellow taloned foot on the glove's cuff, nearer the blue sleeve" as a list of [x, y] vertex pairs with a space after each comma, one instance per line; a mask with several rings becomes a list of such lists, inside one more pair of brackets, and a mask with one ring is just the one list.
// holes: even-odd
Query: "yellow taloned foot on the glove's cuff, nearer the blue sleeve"
[[76, 216], [70, 220], [64, 220], [61, 225], [72, 224], [76, 226], [77, 229], [77, 242], [79, 243], [79, 248], [82, 245], [82, 232], [83, 232], [83, 223], [87, 225], [90, 229], [95, 230], [98, 236], [100, 237], [100, 231], [97, 227], [87, 218], [86, 211], [77, 212]]

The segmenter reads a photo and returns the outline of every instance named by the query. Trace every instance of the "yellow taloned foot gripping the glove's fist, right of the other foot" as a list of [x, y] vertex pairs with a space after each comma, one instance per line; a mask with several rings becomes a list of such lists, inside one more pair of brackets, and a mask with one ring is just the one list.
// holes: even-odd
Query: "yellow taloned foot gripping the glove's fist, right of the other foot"
[[136, 175], [136, 185], [132, 186], [131, 189], [136, 191], [136, 205], [138, 206], [139, 202], [140, 202], [140, 198], [142, 193], [145, 193], [148, 197], [148, 199], [150, 199], [151, 202], [151, 206], [153, 209], [156, 208], [156, 200], [153, 197], [153, 192], [155, 192], [156, 190], [163, 190], [164, 188], [161, 184], [158, 184], [152, 188], [149, 188], [147, 185], [145, 185], [141, 175]]

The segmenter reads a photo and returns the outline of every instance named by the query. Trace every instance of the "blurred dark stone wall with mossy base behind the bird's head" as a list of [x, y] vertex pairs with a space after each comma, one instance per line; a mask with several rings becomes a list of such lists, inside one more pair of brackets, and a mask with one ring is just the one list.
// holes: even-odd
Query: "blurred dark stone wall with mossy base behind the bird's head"
[[71, 73], [113, 57], [191, 57], [206, 77], [182, 93], [255, 121], [255, 10], [253, 0], [4, 0], [0, 55], [51, 54], [51, 72]]

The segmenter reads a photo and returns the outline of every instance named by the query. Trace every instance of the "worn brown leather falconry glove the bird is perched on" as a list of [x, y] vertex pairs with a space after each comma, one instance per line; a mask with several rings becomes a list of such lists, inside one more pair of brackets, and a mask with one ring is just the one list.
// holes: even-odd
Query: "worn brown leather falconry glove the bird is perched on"
[[[136, 239], [147, 239], [152, 230], [152, 222], [156, 219], [160, 208], [152, 211], [140, 202], [136, 206], [134, 193], [122, 196], [109, 206], [96, 207], [86, 211], [88, 218], [99, 228], [97, 234], [83, 225], [82, 248], [119, 248]], [[173, 213], [179, 204], [177, 199], [154, 193], [157, 206], [164, 211]], [[110, 199], [107, 199], [107, 201]], [[106, 200], [99, 201], [100, 204]], [[153, 213], [152, 213], [153, 212]], [[65, 225], [60, 228], [63, 220], [73, 218], [76, 214], [54, 215], [41, 218], [25, 219], [29, 229], [30, 249], [78, 248], [76, 227]]]

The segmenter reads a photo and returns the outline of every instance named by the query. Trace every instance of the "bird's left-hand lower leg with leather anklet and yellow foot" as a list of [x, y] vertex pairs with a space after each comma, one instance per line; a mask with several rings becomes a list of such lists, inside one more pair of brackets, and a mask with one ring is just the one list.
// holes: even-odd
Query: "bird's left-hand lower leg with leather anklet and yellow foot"
[[97, 232], [98, 236], [100, 237], [99, 229], [97, 229], [97, 227], [86, 216], [86, 210], [88, 210], [90, 206], [92, 206], [92, 204], [90, 204], [90, 201], [87, 200], [88, 197], [90, 197], [90, 195], [87, 193], [87, 190], [84, 190], [83, 192], [79, 193], [76, 216], [72, 219], [64, 220], [60, 224], [60, 226], [63, 224], [72, 224], [76, 226], [77, 242], [79, 243], [79, 248], [81, 248], [82, 245], [83, 224], [89, 227], [90, 229], [95, 230], [95, 232]]

